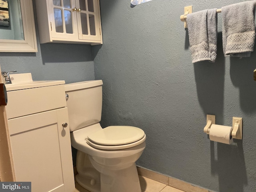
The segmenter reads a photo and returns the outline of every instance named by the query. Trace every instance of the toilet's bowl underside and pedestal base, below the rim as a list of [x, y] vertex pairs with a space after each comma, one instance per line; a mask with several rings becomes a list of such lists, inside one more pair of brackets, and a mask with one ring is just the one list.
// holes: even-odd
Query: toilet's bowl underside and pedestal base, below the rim
[[[102, 157], [102, 154], [106, 153], [105, 150], [98, 150], [100, 155], [95, 156], [78, 150], [78, 184], [91, 192], [141, 192], [135, 162], [140, 158], [145, 146], [146, 143], [143, 142], [129, 149], [107, 151], [111, 158]], [[95, 184], [100, 184], [100, 191], [96, 190]]]

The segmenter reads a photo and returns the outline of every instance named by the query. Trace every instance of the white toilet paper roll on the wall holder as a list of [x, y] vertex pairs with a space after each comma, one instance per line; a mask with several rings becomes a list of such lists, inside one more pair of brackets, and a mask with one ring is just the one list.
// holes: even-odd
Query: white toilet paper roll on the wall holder
[[233, 128], [229, 126], [212, 124], [209, 133], [210, 140], [225, 144], [231, 144], [233, 143], [233, 138], [231, 136], [232, 130]]

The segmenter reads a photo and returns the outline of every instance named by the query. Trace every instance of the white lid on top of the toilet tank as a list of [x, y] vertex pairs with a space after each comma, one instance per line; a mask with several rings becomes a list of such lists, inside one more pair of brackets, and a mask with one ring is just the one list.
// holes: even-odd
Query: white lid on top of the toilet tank
[[101, 86], [102, 84], [103, 84], [102, 80], [92, 80], [92, 81], [69, 83], [69, 84], [65, 84], [65, 91], [68, 92], [68, 91], [92, 88], [92, 87]]

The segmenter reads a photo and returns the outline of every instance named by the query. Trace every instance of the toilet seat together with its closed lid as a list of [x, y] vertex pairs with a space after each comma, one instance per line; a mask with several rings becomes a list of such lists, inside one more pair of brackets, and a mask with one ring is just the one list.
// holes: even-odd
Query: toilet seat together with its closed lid
[[131, 148], [146, 140], [143, 130], [133, 126], [108, 126], [89, 134], [86, 142], [98, 149], [118, 150]]

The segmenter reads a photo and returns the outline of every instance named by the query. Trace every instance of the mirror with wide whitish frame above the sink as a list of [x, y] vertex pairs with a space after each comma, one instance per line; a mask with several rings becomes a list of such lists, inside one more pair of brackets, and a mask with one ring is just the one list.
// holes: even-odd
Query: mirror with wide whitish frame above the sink
[[37, 52], [32, 0], [0, 0], [0, 52]]

